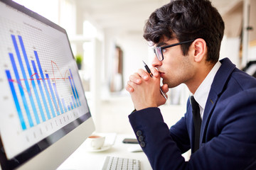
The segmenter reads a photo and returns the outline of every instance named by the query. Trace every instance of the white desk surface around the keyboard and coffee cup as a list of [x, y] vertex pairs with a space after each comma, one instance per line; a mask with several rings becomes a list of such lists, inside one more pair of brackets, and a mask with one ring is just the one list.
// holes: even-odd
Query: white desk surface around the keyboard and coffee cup
[[73, 154], [71, 154], [57, 170], [102, 169], [105, 157], [107, 156], [139, 159], [142, 170], [151, 169], [149, 160], [144, 152], [129, 152], [127, 150], [128, 147], [134, 144], [122, 143], [122, 140], [124, 140], [125, 137], [134, 138], [134, 135], [117, 135], [114, 145], [104, 152], [90, 152], [86, 147], [86, 142], [83, 142], [82, 145]]

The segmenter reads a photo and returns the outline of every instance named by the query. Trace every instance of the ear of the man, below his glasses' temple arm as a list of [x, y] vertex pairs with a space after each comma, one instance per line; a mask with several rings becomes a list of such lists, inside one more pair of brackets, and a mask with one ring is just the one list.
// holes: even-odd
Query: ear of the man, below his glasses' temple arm
[[[202, 38], [198, 38], [194, 40], [192, 45], [194, 61], [201, 62], [207, 54], [206, 41]], [[204, 60], [206, 60], [206, 58]]]

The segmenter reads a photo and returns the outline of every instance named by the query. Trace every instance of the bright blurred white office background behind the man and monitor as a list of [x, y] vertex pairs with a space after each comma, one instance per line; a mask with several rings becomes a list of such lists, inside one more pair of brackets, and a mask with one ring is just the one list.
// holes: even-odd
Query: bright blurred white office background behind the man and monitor
[[[132, 100], [124, 86], [129, 75], [151, 63], [143, 39], [146, 19], [169, 0], [15, 0], [67, 30], [98, 132], [132, 133], [128, 115]], [[225, 20], [220, 58], [255, 74], [255, 0], [212, 0]], [[198, 11], [200, 12], [200, 11]], [[186, 111], [189, 91], [183, 84], [168, 93], [161, 111], [171, 126]]]

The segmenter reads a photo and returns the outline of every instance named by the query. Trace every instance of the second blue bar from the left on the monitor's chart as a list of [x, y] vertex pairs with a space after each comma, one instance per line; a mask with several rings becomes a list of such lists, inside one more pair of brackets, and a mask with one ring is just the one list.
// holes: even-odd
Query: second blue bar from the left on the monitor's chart
[[28, 117], [28, 123], [29, 123], [30, 127], [33, 127], [33, 121], [31, 119], [31, 113], [30, 113], [30, 111], [28, 109], [28, 103], [26, 101], [26, 96], [25, 96], [24, 91], [22, 89], [22, 84], [21, 84], [21, 81], [20, 81], [20, 77], [18, 75], [18, 69], [17, 69], [16, 63], [14, 61], [14, 55], [9, 53], [9, 56], [10, 56], [10, 59], [11, 59], [12, 67], [14, 68], [14, 73], [15, 73], [16, 80], [18, 82], [18, 89], [19, 89], [19, 91], [21, 93], [21, 98], [22, 98], [22, 101], [23, 101], [23, 106], [25, 108], [26, 115]]

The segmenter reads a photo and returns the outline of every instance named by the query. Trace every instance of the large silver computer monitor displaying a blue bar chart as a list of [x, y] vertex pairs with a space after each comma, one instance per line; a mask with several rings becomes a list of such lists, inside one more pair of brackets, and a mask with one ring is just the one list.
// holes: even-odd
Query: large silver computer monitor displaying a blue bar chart
[[0, 0], [0, 169], [56, 169], [94, 130], [65, 30]]

